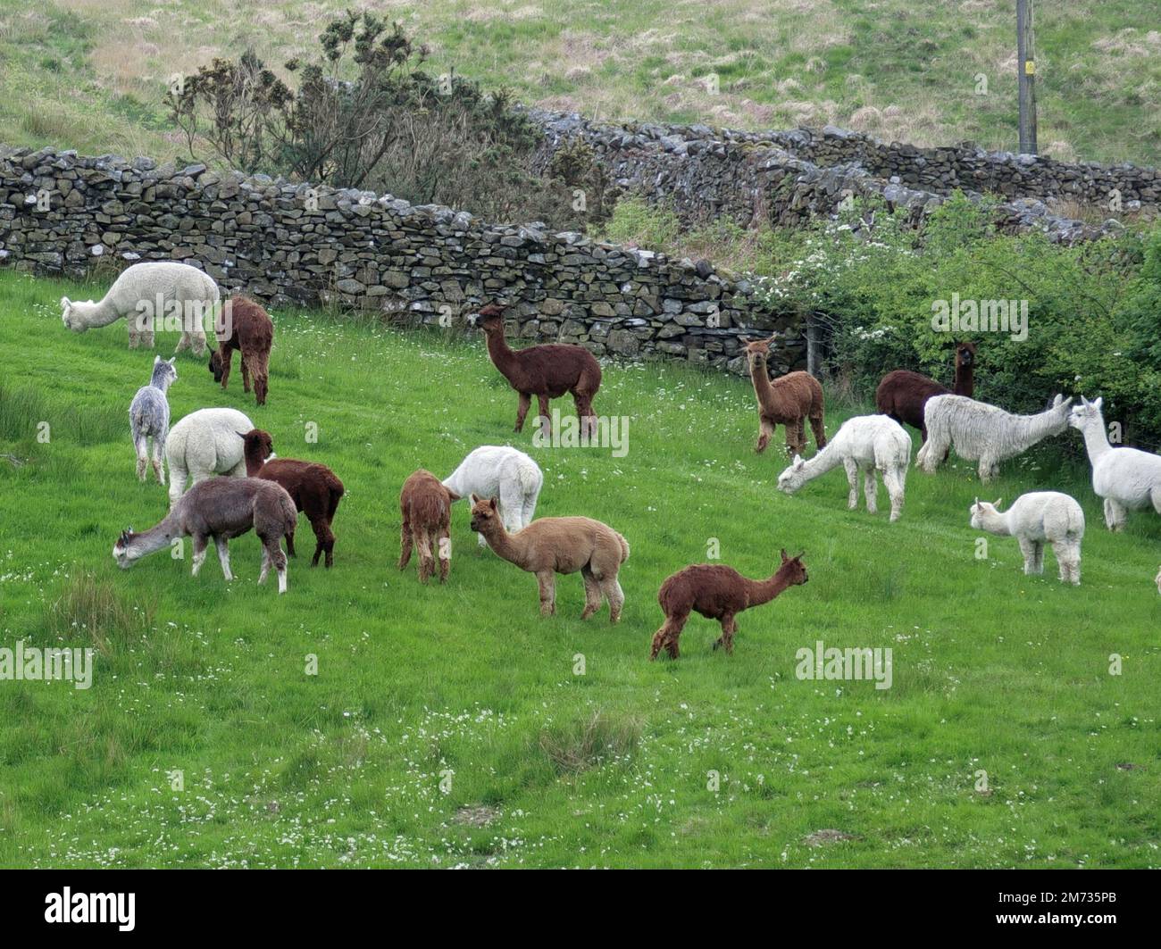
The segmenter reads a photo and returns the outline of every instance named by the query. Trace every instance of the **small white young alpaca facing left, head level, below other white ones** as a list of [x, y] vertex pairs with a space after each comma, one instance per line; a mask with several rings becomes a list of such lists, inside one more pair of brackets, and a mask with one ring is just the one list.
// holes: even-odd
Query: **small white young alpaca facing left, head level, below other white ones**
[[1008, 510], [998, 510], [1001, 501], [989, 505], [975, 499], [972, 527], [989, 534], [1012, 536], [1024, 555], [1025, 573], [1044, 573], [1044, 545], [1052, 545], [1060, 567], [1060, 582], [1081, 584], [1081, 538], [1084, 536], [1084, 512], [1067, 494], [1059, 491], [1031, 491], [1021, 494]]

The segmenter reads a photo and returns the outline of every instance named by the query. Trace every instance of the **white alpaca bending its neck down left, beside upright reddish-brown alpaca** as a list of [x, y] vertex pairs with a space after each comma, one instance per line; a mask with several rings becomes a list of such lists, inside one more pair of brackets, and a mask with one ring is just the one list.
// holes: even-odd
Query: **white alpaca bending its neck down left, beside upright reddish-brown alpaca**
[[890, 520], [897, 521], [903, 510], [903, 488], [910, 463], [911, 439], [899, 422], [887, 415], [857, 415], [843, 422], [835, 437], [810, 461], [803, 462], [795, 455], [791, 466], [778, 476], [778, 490], [793, 494], [813, 478], [843, 465], [851, 488], [846, 507], [853, 510], [859, 505], [858, 472], [861, 471], [867, 510], [874, 514], [878, 471], [890, 497]]

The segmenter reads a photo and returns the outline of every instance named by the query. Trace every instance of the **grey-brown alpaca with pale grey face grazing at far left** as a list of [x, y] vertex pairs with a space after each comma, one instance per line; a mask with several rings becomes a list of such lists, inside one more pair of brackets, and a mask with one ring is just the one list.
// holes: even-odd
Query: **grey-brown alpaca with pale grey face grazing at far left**
[[123, 530], [113, 545], [113, 559], [128, 570], [147, 553], [170, 546], [178, 537], [194, 538], [193, 575], [202, 567], [212, 538], [222, 562], [222, 573], [232, 580], [229, 541], [251, 528], [262, 542], [262, 570], [258, 582], [265, 584], [271, 566], [279, 574], [279, 593], [287, 592], [287, 558], [279, 546], [294, 535], [298, 513], [281, 485], [261, 478], [210, 478], [187, 491], [170, 513], [143, 534]]

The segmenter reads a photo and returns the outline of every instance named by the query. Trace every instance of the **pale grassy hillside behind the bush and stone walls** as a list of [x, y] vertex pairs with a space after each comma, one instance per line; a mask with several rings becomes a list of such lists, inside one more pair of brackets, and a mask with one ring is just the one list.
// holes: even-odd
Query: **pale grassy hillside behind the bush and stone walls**
[[[347, 0], [0, 0], [0, 142], [171, 157], [168, 78], [257, 49], [313, 49]], [[365, 6], [365, 5], [355, 5]], [[437, 71], [590, 115], [743, 128], [827, 122], [888, 139], [1016, 145], [1015, 7], [986, 0], [449, 0], [366, 5]], [[1155, 3], [1037, 5], [1040, 147], [1156, 164]], [[717, 77], [717, 90], [709, 77]], [[978, 94], [978, 77], [987, 93]]]

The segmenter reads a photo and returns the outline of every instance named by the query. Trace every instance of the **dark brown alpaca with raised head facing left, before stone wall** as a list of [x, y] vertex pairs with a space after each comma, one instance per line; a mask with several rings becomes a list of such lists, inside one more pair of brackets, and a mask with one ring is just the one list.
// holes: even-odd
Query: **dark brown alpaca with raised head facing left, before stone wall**
[[580, 434], [596, 432], [597, 416], [592, 411], [592, 397], [600, 389], [600, 363], [583, 346], [568, 343], [545, 343], [513, 350], [504, 340], [504, 307], [495, 303], [479, 311], [478, 326], [488, 338], [488, 355], [512, 387], [520, 393], [515, 413], [515, 430], [524, 428], [532, 397], [540, 404], [543, 434], [551, 426], [548, 421], [548, 400], [572, 393]]

